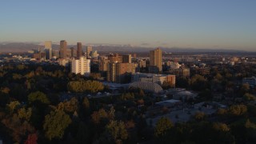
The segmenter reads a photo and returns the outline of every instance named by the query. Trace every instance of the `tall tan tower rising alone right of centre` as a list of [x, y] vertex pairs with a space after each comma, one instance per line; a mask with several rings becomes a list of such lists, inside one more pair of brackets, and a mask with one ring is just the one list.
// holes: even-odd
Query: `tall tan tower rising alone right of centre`
[[150, 50], [150, 67], [149, 72], [158, 74], [162, 72], [162, 50]]

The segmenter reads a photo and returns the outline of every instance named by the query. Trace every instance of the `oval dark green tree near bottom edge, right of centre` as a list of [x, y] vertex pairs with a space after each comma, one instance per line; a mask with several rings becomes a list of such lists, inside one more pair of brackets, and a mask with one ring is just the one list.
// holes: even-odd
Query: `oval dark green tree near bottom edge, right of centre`
[[158, 120], [154, 128], [154, 135], [157, 138], [162, 138], [166, 136], [166, 134], [170, 131], [172, 127], [173, 127], [173, 123], [170, 121], [170, 119], [162, 117]]

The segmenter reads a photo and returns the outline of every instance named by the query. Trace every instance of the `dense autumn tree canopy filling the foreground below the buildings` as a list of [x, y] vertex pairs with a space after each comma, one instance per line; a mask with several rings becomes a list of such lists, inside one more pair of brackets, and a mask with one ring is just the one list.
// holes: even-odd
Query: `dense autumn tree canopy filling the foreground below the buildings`
[[[130, 88], [116, 96], [87, 98], [107, 87], [62, 66], [9, 63], [0, 67], [0, 135], [5, 143], [27, 144], [255, 143], [254, 90], [235, 86], [234, 80], [249, 74], [238, 70], [213, 68], [209, 75], [178, 78], [178, 85], [197, 90], [197, 101], [211, 101], [213, 92], [234, 93], [241, 101], [213, 115], [198, 112], [189, 122], [164, 117], [152, 126], [146, 111], [161, 101], [153, 94]], [[63, 98], [66, 94], [72, 97]]]

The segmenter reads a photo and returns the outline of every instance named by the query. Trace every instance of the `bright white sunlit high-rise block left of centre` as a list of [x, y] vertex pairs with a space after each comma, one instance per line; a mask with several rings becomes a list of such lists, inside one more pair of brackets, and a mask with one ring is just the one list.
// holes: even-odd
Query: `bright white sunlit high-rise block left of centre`
[[79, 59], [73, 59], [71, 62], [71, 72], [74, 74], [90, 75], [90, 59], [86, 57], [80, 57]]

